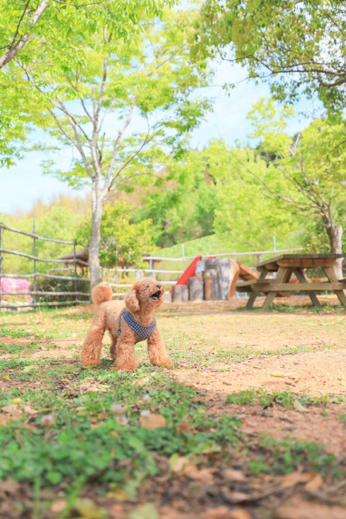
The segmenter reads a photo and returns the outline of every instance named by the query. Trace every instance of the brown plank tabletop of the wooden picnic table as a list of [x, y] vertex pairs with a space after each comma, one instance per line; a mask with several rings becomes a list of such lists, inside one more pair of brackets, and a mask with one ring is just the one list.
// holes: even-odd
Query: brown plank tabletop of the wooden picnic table
[[256, 265], [257, 270], [266, 267], [268, 271], [276, 271], [279, 267], [302, 267], [302, 268], [319, 268], [335, 265], [338, 258], [342, 254], [282, 254], [274, 256], [269, 260], [263, 261]]

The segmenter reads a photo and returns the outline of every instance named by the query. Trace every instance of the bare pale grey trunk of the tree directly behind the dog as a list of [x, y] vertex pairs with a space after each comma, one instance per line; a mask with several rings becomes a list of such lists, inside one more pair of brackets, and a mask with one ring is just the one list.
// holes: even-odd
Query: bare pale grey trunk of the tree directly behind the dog
[[91, 238], [89, 243], [89, 271], [91, 289], [102, 281], [100, 268], [100, 228], [103, 198], [98, 191], [98, 185], [93, 183], [91, 187]]

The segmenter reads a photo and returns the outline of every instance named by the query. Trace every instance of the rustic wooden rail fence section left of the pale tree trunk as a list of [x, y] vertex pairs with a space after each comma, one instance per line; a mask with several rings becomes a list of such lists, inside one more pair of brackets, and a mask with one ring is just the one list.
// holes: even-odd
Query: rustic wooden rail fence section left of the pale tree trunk
[[[2, 231], [3, 230], [8, 230], [13, 233], [19, 233], [19, 234], [31, 237], [33, 239], [33, 254], [25, 254], [24, 252], [13, 251], [13, 250], [2, 248]], [[73, 251], [74, 251], [73, 260], [62, 260], [61, 258], [57, 258], [57, 259], [39, 258], [36, 255], [36, 241], [37, 240], [51, 241], [54, 243], [62, 243], [64, 245], [72, 245]], [[3, 272], [2, 271], [3, 270], [2, 269], [3, 254], [13, 254], [13, 255], [29, 258], [29, 260], [32, 260], [33, 261], [32, 274], [8, 274], [7, 272]], [[67, 275], [58, 276], [58, 275], [53, 275], [53, 274], [41, 274], [40, 272], [37, 272], [37, 270], [36, 270], [37, 262], [54, 263], [54, 264], [71, 263], [72, 264], [71, 267], [62, 268], [59, 270], [73, 271], [74, 274], [73, 274], [73, 276], [67, 276]], [[78, 265], [84, 264], [85, 266], [88, 266], [88, 263], [82, 262], [80, 259], [78, 259], [78, 261], [77, 261], [76, 240], [64, 241], [64, 240], [55, 240], [53, 238], [44, 238], [42, 236], [38, 236], [38, 234], [36, 234], [36, 232], [35, 232], [35, 217], [33, 220], [33, 232], [32, 233], [27, 233], [24, 230], [15, 229], [14, 227], [9, 227], [0, 222], [0, 279], [1, 278], [20, 278], [20, 279], [32, 279], [33, 280], [33, 290], [29, 290], [29, 291], [25, 291], [25, 292], [24, 291], [9, 292], [9, 291], [0, 290], [0, 306], [1, 306], [1, 308], [10, 308], [10, 309], [25, 308], [25, 307], [37, 308], [39, 306], [59, 306], [59, 305], [66, 306], [66, 305], [76, 305], [79, 303], [89, 303], [90, 292], [79, 292], [77, 290], [77, 282], [79, 280], [80, 281], [89, 281], [89, 278], [81, 278], [81, 277], [77, 276], [77, 263], [78, 263]], [[39, 291], [39, 290], [37, 290], [37, 278], [38, 277], [48, 278], [48, 279], [72, 280], [72, 281], [74, 281], [74, 291], [70, 291], [70, 292], [68, 292], [68, 291], [66, 291], [66, 292]], [[28, 302], [28, 303], [10, 303], [3, 299], [3, 296], [9, 296], [9, 295], [13, 295], [13, 296], [19, 296], [19, 295], [28, 296], [29, 295], [29, 296], [32, 296], [32, 301]], [[71, 299], [71, 301], [55, 301], [55, 302], [42, 303], [42, 302], [37, 302], [37, 296], [74, 296], [74, 299]], [[81, 300], [80, 297], [84, 297], [84, 298], [87, 297], [88, 300], [87, 301]], [[3, 301], [2, 301], [2, 299], [3, 299]]]

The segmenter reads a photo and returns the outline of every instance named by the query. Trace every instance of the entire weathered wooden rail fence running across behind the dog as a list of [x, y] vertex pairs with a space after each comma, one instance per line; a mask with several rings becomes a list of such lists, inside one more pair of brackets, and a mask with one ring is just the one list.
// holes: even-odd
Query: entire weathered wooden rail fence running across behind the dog
[[[33, 239], [33, 254], [26, 254], [23, 252], [15, 251], [15, 250], [9, 250], [2, 248], [2, 231], [7, 230], [11, 231], [13, 233], [19, 233], [28, 237], [31, 237]], [[73, 247], [73, 259], [66, 260], [64, 258], [56, 258], [56, 259], [45, 259], [45, 258], [39, 258], [36, 255], [36, 241], [37, 240], [44, 240], [44, 241], [51, 241], [54, 243], [61, 243], [64, 245], [72, 245]], [[274, 242], [275, 244], [275, 242]], [[281, 249], [276, 250], [275, 248], [270, 251], [251, 251], [251, 252], [225, 252], [220, 254], [202, 254], [202, 260], [203, 258], [210, 257], [211, 255], [213, 257], [232, 257], [235, 260], [239, 260], [241, 257], [251, 257], [251, 264], [259, 263], [262, 260], [262, 255], [276, 255], [276, 254], [283, 254], [285, 252], [297, 252], [303, 250], [302, 248], [299, 249]], [[124, 293], [126, 290], [129, 289], [132, 283], [132, 280], [129, 279], [128, 283], [121, 283], [121, 279], [119, 280], [119, 276], [122, 278], [122, 274], [126, 274], [129, 278], [141, 278], [144, 276], [151, 276], [157, 278], [160, 283], [164, 285], [168, 285], [167, 288], [170, 288], [170, 286], [174, 285], [177, 281], [177, 279], [183, 274], [186, 267], [190, 263], [190, 260], [193, 260], [195, 256], [185, 256], [184, 254], [184, 247], [182, 247], [183, 255], [181, 257], [171, 258], [171, 257], [164, 257], [164, 256], [145, 256], [143, 258], [144, 261], [148, 262], [148, 268], [144, 269], [137, 269], [137, 268], [116, 268], [115, 270], [111, 269], [103, 269], [103, 280], [107, 282], [110, 286], [115, 288], [114, 297], [115, 298], [122, 298], [124, 296]], [[32, 260], [33, 262], [33, 272], [32, 274], [10, 274], [7, 272], [3, 272], [2, 270], [2, 260], [3, 260], [3, 254], [13, 254], [13, 255], [19, 255], [22, 257], [29, 258], [29, 260]], [[36, 262], [45, 262], [45, 263], [65, 263], [65, 264], [71, 264], [71, 267], [67, 268], [61, 268], [59, 270], [62, 271], [73, 271], [73, 276], [68, 275], [54, 275], [54, 274], [41, 274], [40, 272], [37, 272], [36, 270]], [[169, 262], [175, 263], [176, 266], [180, 266], [181, 268], [155, 268], [156, 262]], [[26, 292], [19, 292], [19, 291], [1, 291], [0, 290], [0, 306], [1, 308], [23, 308], [23, 307], [33, 307], [37, 308], [39, 306], [61, 306], [61, 305], [76, 305], [76, 304], [87, 304], [90, 301], [90, 291], [89, 292], [80, 292], [77, 290], [77, 282], [78, 281], [90, 281], [89, 278], [86, 277], [79, 277], [77, 276], [77, 265], [83, 265], [85, 267], [88, 267], [88, 263], [85, 261], [82, 261], [80, 258], [77, 258], [76, 255], [76, 240], [74, 241], [64, 241], [64, 240], [56, 240], [53, 238], [44, 238], [42, 236], [38, 236], [35, 232], [35, 217], [33, 220], [33, 232], [28, 233], [27, 231], [23, 231], [20, 229], [15, 229], [13, 227], [9, 227], [3, 223], [0, 222], [0, 279], [1, 278], [20, 278], [20, 279], [32, 279], [33, 280], [33, 287], [32, 290], [26, 291]], [[52, 269], [57, 270], [57, 269]], [[54, 291], [39, 291], [37, 290], [37, 278], [48, 278], [48, 279], [63, 279], [63, 280], [72, 280], [74, 282], [74, 290], [73, 291], [64, 291], [64, 292], [54, 292]], [[165, 279], [168, 278], [168, 279]], [[172, 279], [173, 278], [173, 279]], [[119, 282], [120, 281], [120, 282]], [[120, 290], [119, 290], [120, 289]], [[3, 299], [2, 296], [18, 296], [18, 295], [30, 295], [32, 296], [32, 302], [28, 303], [9, 303]], [[37, 302], [37, 297], [39, 296], [71, 296], [74, 297], [70, 301], [58, 301], [58, 302]]]

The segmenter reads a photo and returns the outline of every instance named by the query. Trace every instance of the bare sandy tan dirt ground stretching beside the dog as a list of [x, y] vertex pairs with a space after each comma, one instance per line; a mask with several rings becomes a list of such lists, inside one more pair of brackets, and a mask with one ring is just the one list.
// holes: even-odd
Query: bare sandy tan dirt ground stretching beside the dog
[[[165, 303], [156, 312], [156, 317], [174, 359], [173, 368], [169, 372], [180, 382], [198, 391], [206, 412], [213, 415], [237, 415], [241, 418], [242, 430], [250, 437], [264, 432], [278, 440], [288, 435], [299, 440], [322, 443], [328, 453], [343, 460], [346, 456], [346, 420], [342, 417], [346, 418], [346, 404], [340, 403], [340, 397], [346, 394], [345, 309], [338, 305], [336, 296], [319, 299], [328, 304], [319, 312], [312, 308], [310, 299], [303, 296], [275, 299], [274, 304], [280, 306], [270, 311], [246, 310], [246, 299], [243, 298], [222, 302]], [[262, 299], [257, 299], [255, 306], [261, 303]], [[282, 305], [287, 305], [285, 311], [282, 311]], [[294, 305], [300, 308], [292, 308]], [[78, 312], [84, 315], [88, 312], [91, 316], [93, 311], [94, 307], [90, 305], [66, 309], [63, 314], [67, 320], [70, 314], [76, 316]], [[72, 359], [82, 345], [90, 320], [76, 322], [73, 337], [43, 342], [40, 349], [31, 353], [32, 358]], [[25, 340], [29, 342], [31, 338], [16, 340], [24, 344]], [[4, 338], [0, 342], [4, 342]], [[106, 337], [104, 343], [108, 342]], [[52, 344], [54, 348], [49, 348]], [[77, 345], [77, 349], [73, 345]], [[109, 357], [108, 348], [104, 348], [103, 355]], [[139, 348], [138, 356], [140, 363], [147, 363], [144, 348]], [[3, 390], [6, 384], [6, 380], [0, 382]], [[288, 408], [275, 402], [268, 408], [257, 402], [252, 405], [226, 402], [227, 395], [259, 388], [270, 393], [289, 390], [299, 395], [329, 398], [323, 406], [303, 406], [302, 409]], [[171, 493], [174, 493], [173, 490], [170, 489]], [[181, 489], [177, 489], [179, 492]], [[297, 511], [295, 499], [298, 500], [300, 512]], [[328, 506], [326, 504], [325, 508], [320, 502], [316, 504], [316, 510], [314, 504], [309, 502], [305, 510], [305, 501], [302, 499], [292, 496], [288, 504], [284, 503], [277, 509], [276, 517], [344, 517], [345, 509], [333, 507], [333, 502], [328, 503]], [[122, 517], [120, 508], [119, 515], [115, 513], [114, 517]], [[178, 514], [178, 507], [172, 515], [169, 507], [166, 508], [166, 512], [162, 508], [161, 512], [164, 513], [160, 517], [187, 517], [184, 513]], [[192, 515], [187, 519], [190, 517]], [[215, 515], [212, 512], [205, 515], [205, 519], [224, 517], [249, 519], [251, 515], [246, 515], [244, 510], [240, 510], [239, 515], [223, 515], [222, 510], [219, 515], [216, 512]]]

